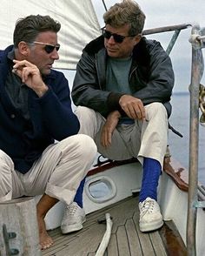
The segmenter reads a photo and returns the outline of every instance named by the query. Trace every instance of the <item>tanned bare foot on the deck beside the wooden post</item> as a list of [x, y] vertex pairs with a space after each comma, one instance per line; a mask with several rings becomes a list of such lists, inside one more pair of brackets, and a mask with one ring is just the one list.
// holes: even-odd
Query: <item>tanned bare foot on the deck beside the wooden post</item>
[[39, 240], [41, 250], [45, 250], [52, 246], [53, 239], [50, 238], [48, 232], [46, 231], [45, 221], [42, 217], [37, 217], [38, 229], [39, 229]]

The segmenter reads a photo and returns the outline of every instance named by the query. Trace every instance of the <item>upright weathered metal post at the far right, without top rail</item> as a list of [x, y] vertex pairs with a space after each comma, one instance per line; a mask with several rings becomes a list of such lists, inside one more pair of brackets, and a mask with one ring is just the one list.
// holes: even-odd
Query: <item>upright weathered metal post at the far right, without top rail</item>
[[[190, 92], [189, 164], [188, 164], [188, 218], [187, 251], [195, 256], [195, 227], [198, 207], [205, 207], [204, 200], [198, 200], [198, 149], [199, 149], [199, 95], [204, 70], [202, 48], [205, 47], [205, 30], [193, 25], [189, 42], [192, 44], [192, 67]], [[202, 113], [203, 116], [204, 113]], [[204, 119], [201, 118], [203, 121]], [[201, 192], [202, 190], [200, 190]]]

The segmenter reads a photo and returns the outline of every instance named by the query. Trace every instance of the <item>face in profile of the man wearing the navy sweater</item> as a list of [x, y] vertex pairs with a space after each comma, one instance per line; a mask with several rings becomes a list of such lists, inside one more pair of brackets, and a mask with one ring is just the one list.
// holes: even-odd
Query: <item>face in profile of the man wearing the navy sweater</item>
[[[50, 69], [52, 68], [52, 64], [56, 59], [59, 58], [57, 53], [57, 36], [53, 31], [45, 31], [38, 34], [35, 39], [35, 42], [29, 49], [30, 53], [27, 56], [27, 60], [36, 64], [38, 69], [41, 71], [43, 75], [50, 74]], [[43, 44], [42, 44], [43, 43]], [[50, 44], [50, 46], [46, 46], [46, 44]], [[52, 45], [56, 45], [52, 47]], [[49, 48], [49, 52], [48, 52]]]

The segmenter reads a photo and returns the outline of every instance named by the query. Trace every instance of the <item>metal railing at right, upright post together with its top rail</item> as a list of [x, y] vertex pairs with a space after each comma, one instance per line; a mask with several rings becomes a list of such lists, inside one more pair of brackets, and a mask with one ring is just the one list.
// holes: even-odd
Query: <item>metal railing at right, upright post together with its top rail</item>
[[[204, 70], [202, 48], [205, 48], [205, 28], [198, 24], [180, 24], [143, 30], [142, 35], [150, 35], [175, 30], [169, 42], [167, 53], [172, 50], [181, 30], [192, 27], [189, 42], [192, 44], [192, 68], [190, 92], [190, 128], [189, 128], [189, 162], [188, 162], [188, 217], [187, 217], [187, 253], [196, 255], [195, 227], [197, 208], [205, 208], [205, 188], [198, 185], [198, 148], [199, 148], [199, 107], [202, 110], [200, 121], [205, 125], [205, 88], [200, 84]], [[201, 94], [200, 94], [201, 93]]]

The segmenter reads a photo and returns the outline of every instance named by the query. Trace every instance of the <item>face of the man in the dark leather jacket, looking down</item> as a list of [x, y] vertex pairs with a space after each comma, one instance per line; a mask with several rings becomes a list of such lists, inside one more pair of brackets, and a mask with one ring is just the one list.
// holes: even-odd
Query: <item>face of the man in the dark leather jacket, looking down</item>
[[[117, 43], [115, 35], [109, 38], [104, 38], [104, 46], [108, 52], [109, 57], [124, 58], [129, 57], [133, 51], [133, 48], [140, 41], [140, 36], [128, 37], [129, 36], [129, 24], [123, 25], [120, 28], [114, 28], [109, 24], [106, 24], [105, 30], [108, 31], [108, 35], [117, 34], [124, 36], [122, 43]], [[111, 33], [111, 34], [110, 34]], [[107, 35], [105, 35], [107, 36]]]

